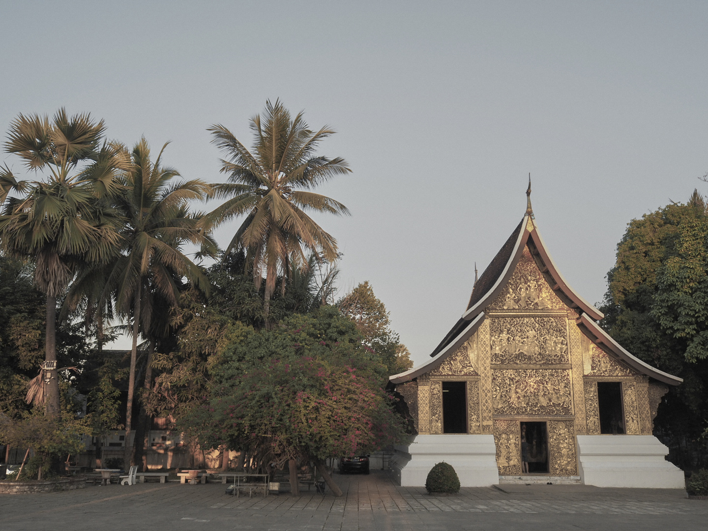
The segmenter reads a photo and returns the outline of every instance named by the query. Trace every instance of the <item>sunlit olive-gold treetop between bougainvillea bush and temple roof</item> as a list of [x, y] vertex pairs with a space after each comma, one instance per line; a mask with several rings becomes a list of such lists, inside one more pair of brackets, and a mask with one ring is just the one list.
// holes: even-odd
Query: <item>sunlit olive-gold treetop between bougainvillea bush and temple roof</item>
[[389, 312], [374, 294], [368, 280], [351, 290], [337, 306], [342, 314], [354, 321], [365, 347], [380, 356], [389, 374], [395, 375], [413, 367], [408, 348], [392, 331]]

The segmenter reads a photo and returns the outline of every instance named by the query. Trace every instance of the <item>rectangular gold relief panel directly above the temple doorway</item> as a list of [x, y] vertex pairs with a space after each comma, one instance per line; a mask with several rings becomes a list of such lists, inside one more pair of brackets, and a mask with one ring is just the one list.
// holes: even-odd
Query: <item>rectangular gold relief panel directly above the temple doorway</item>
[[573, 414], [568, 370], [494, 370], [492, 385], [496, 415]]

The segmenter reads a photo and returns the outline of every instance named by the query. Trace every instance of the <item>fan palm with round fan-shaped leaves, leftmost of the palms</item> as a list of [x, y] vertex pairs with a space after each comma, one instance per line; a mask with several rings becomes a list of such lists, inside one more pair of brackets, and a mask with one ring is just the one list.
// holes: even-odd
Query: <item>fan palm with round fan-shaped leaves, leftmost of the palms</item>
[[[106, 263], [120, 249], [118, 219], [105, 198], [116, 190], [115, 171], [125, 167], [120, 150], [103, 140], [103, 120], [67, 116], [62, 108], [46, 115], [19, 115], [11, 122], [6, 152], [18, 154], [27, 169], [45, 171], [43, 181], [18, 181], [5, 169], [3, 190], [25, 190], [6, 200], [0, 216], [0, 245], [13, 256], [35, 262], [34, 282], [47, 295], [45, 382], [47, 416], [59, 416], [56, 370], [56, 311], [81, 263]], [[103, 143], [103, 145], [102, 145]]]

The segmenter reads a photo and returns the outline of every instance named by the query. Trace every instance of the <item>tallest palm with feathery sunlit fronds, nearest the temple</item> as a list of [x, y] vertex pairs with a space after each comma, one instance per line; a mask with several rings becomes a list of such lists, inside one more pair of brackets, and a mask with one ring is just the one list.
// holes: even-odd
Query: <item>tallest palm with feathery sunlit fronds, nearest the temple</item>
[[344, 159], [315, 156], [321, 140], [334, 133], [329, 127], [314, 132], [299, 113], [295, 118], [280, 103], [265, 103], [263, 119], [251, 119], [255, 142], [252, 152], [223, 125], [212, 125], [212, 143], [224, 152], [222, 173], [229, 182], [214, 186], [217, 198], [227, 199], [208, 220], [217, 225], [245, 216], [227, 247], [245, 249], [253, 261], [253, 280], [261, 287], [265, 273], [263, 310], [268, 319], [270, 298], [275, 292], [278, 270], [282, 290], [292, 270], [292, 261], [307, 263], [305, 250], [321, 254], [326, 261], [337, 256], [337, 242], [307, 212], [348, 214], [341, 202], [310, 190], [333, 176], [351, 170]]

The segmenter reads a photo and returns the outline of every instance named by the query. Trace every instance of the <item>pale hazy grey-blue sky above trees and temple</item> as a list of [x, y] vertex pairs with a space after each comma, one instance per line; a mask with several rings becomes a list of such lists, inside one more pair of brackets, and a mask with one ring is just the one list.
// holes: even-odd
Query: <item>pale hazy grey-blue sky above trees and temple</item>
[[321, 191], [352, 216], [317, 219], [341, 289], [369, 280], [416, 362], [523, 216], [528, 172], [549, 250], [590, 302], [630, 219], [708, 191], [705, 2], [2, 0], [0, 21], [3, 131], [90, 111], [217, 181], [206, 128], [250, 145], [267, 98], [338, 130], [321, 154], [354, 173]]

